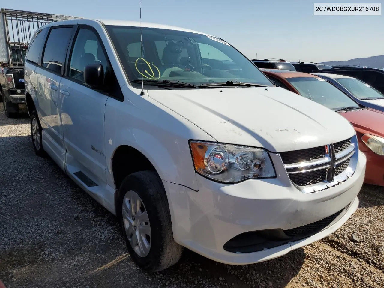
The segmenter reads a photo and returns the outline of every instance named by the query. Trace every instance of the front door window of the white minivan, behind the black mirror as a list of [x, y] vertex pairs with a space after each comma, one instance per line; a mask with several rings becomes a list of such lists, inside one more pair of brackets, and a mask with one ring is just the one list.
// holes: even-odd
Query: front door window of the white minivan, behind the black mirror
[[70, 58], [69, 76], [84, 82], [84, 68], [90, 64], [101, 64], [104, 73], [107, 70], [107, 59], [96, 34], [85, 28], [81, 28], [76, 37]]

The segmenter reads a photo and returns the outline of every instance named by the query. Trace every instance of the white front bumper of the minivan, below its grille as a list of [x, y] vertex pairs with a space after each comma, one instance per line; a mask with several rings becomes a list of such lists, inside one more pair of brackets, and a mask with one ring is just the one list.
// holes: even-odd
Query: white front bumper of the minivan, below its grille
[[[271, 158], [280, 157], [271, 154]], [[277, 159], [272, 159], [274, 162]], [[280, 257], [313, 243], [343, 225], [358, 207], [366, 157], [359, 152], [353, 176], [329, 189], [304, 194], [290, 182], [284, 167], [277, 178], [250, 179], [226, 185], [196, 175], [199, 191], [163, 181], [172, 229], [177, 243], [207, 258], [227, 264], [250, 264]], [[250, 253], [228, 252], [233, 237], [258, 230], [289, 230], [327, 218], [343, 210], [318, 233], [278, 247]]]

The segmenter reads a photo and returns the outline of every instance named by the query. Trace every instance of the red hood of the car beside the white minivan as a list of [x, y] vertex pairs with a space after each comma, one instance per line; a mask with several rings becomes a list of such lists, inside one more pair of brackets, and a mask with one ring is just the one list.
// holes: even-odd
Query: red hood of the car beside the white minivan
[[384, 113], [374, 109], [339, 112], [352, 123], [356, 131], [384, 137]]

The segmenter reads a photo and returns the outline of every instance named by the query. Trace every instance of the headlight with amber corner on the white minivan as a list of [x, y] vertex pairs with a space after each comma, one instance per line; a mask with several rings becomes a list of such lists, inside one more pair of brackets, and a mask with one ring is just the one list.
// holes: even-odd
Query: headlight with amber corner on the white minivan
[[268, 152], [261, 148], [190, 141], [190, 149], [196, 172], [215, 181], [235, 183], [276, 176]]

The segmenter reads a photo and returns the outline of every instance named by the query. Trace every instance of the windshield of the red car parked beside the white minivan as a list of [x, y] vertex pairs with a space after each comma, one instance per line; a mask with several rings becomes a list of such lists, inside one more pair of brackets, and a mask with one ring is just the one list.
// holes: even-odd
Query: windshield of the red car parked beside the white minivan
[[338, 88], [324, 79], [314, 77], [287, 78], [301, 96], [333, 110], [359, 105]]

